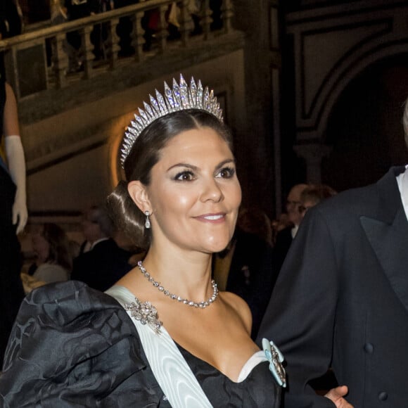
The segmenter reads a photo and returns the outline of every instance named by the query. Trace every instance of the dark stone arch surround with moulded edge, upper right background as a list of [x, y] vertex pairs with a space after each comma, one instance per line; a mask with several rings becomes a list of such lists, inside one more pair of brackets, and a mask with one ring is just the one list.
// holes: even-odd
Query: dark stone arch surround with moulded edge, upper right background
[[321, 182], [329, 117], [345, 89], [378, 61], [408, 53], [408, 4], [347, 4], [293, 13], [295, 146], [306, 179]]

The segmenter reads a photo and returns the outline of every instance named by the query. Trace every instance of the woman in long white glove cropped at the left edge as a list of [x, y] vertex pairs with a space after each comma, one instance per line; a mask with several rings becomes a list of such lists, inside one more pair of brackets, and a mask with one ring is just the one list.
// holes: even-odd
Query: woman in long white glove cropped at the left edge
[[[8, 4], [8, 2], [7, 2]], [[7, 5], [0, 4], [0, 40], [11, 35]], [[20, 281], [20, 234], [27, 222], [25, 159], [15, 95], [6, 82], [4, 53], [0, 53], [0, 364], [13, 321], [24, 298]], [[4, 150], [3, 150], [4, 148]], [[3, 154], [4, 153], [4, 154]]]

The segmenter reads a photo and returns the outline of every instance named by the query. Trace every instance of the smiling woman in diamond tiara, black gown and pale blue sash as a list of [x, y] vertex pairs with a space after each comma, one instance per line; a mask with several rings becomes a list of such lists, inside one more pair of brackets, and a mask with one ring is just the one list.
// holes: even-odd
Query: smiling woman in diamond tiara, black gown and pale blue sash
[[[267, 340], [265, 352], [257, 348], [246, 303], [211, 280], [212, 253], [231, 239], [241, 202], [221, 110], [200, 83], [188, 88], [182, 77], [165, 87], [165, 98], [156, 95], [129, 126], [127, 181], [108, 198], [146, 257], [107, 291], [122, 306], [75, 282], [33, 292], [0, 377], [8, 404], [24, 389], [30, 401], [58, 407], [279, 407], [286, 383], [279, 350]], [[27, 352], [19, 342], [38, 302], [59, 365], [38, 358], [32, 374], [27, 355], [45, 346]], [[78, 302], [81, 310], [72, 311]]]

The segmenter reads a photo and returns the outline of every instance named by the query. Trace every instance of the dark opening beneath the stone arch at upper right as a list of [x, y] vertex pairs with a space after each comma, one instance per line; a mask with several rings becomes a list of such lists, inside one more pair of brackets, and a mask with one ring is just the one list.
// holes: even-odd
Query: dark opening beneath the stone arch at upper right
[[408, 97], [408, 53], [368, 65], [348, 84], [331, 109], [321, 160], [321, 179], [338, 190], [379, 179], [392, 165], [408, 163], [402, 128]]

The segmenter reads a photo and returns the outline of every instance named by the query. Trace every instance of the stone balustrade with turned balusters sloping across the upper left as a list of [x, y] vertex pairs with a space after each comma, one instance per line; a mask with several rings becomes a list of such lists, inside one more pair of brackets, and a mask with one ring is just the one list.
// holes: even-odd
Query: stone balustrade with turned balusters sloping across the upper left
[[[214, 24], [209, 0], [203, 1], [203, 8], [195, 21], [189, 13], [189, 0], [182, 0], [177, 1], [177, 35], [171, 35], [167, 19], [173, 3], [172, 0], [148, 0], [0, 41], [8, 82], [12, 84], [18, 100], [25, 100], [33, 94], [63, 89], [72, 82], [87, 80], [129, 63], [144, 63], [160, 53], [186, 48], [197, 40], [205, 42], [215, 35], [229, 34], [232, 30], [232, 0], [222, 0], [217, 25]], [[151, 46], [146, 46], [146, 37], [152, 34], [143, 24], [146, 13], [158, 15]], [[122, 52], [123, 37], [118, 34], [118, 27], [124, 20], [131, 27], [128, 33], [131, 53]], [[106, 33], [102, 60], [95, 60], [95, 44], [91, 41], [96, 27]], [[80, 70], [70, 73], [67, 34], [72, 32], [79, 34], [82, 57]]]

